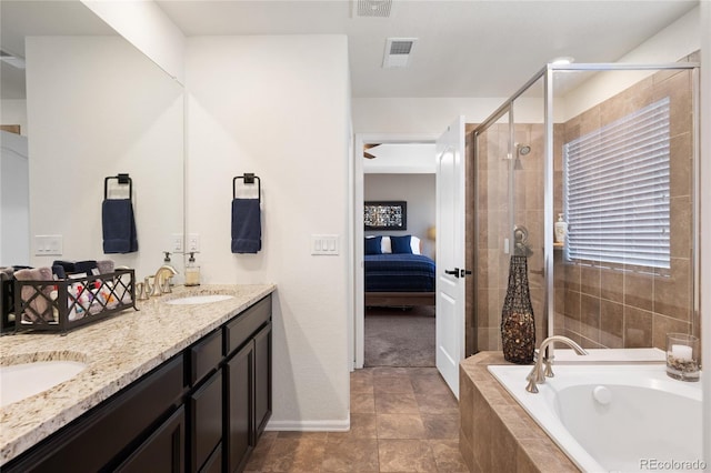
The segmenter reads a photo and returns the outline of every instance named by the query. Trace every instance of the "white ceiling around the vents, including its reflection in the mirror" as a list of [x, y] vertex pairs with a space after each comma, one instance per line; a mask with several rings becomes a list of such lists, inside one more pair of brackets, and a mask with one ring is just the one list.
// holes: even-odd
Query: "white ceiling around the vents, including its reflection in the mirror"
[[[509, 97], [545, 62], [613, 62], [699, 0], [394, 0], [390, 18], [351, 0], [157, 0], [186, 36], [347, 34], [354, 98]], [[110, 34], [78, 1], [8, 1], [1, 47], [24, 34]], [[418, 38], [411, 66], [383, 69], [389, 37]], [[2, 97], [13, 72], [2, 71]]]

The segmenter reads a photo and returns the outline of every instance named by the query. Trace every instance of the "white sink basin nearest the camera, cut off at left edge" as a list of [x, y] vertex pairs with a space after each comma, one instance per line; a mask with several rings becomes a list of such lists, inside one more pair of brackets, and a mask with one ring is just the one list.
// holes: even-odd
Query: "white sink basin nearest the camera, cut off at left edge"
[[63, 383], [86, 368], [86, 363], [69, 360], [37, 361], [0, 366], [0, 407]]

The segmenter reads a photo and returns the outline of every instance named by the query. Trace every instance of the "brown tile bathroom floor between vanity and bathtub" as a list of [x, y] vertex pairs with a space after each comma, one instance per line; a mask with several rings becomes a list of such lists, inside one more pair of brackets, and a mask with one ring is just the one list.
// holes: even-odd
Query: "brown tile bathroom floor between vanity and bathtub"
[[349, 432], [264, 432], [246, 472], [468, 473], [457, 399], [434, 368], [357, 370]]

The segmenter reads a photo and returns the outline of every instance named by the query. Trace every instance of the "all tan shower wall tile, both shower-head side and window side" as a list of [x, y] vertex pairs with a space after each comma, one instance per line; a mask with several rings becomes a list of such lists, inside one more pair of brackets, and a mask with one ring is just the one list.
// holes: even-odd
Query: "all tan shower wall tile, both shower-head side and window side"
[[[671, 269], [651, 273], [641, 268], [610, 268], [585, 261], [563, 261], [554, 251], [555, 333], [585, 348], [664, 349], [668, 332], [700, 334], [693, 310], [692, 171], [693, 135], [691, 72], [659, 72], [565, 123], [554, 134], [554, 214], [562, 211], [562, 145], [663, 97], [671, 99]], [[477, 349], [500, 350], [501, 308], [509, 254], [508, 124], [494, 124], [480, 135], [477, 164]], [[544, 314], [543, 125], [517, 124], [515, 141], [531, 145], [514, 171], [515, 223], [529, 230], [533, 254], [529, 282], [535, 314], [537, 343], [547, 335]]]

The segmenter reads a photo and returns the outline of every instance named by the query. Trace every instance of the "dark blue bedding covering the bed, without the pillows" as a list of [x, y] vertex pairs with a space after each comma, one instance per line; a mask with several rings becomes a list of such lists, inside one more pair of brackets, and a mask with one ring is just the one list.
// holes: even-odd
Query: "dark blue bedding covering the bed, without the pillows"
[[433, 292], [434, 261], [422, 254], [365, 255], [365, 292]]

